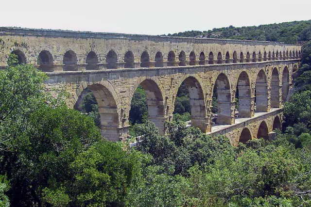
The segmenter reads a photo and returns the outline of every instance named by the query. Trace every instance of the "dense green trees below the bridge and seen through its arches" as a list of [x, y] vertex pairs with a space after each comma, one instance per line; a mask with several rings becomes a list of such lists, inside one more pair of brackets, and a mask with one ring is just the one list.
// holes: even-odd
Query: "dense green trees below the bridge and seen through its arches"
[[17, 64], [15, 55], [8, 65], [0, 70], [0, 207], [311, 206], [311, 41], [283, 106], [282, 131], [271, 142], [238, 146], [185, 126], [184, 84], [165, 136], [147, 120], [138, 87], [131, 133], [144, 136], [130, 147], [133, 140], [112, 143], [100, 135], [91, 93], [82, 111], [69, 109], [69, 95], [46, 93], [47, 76], [34, 65]]

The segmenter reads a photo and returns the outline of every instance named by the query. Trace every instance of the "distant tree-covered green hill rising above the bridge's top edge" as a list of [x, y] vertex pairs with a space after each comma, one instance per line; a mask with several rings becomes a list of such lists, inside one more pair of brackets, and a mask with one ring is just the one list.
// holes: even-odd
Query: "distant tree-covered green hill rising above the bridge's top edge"
[[237, 40], [261, 40], [298, 44], [298, 41], [311, 40], [311, 20], [283, 22], [251, 27], [223, 27], [208, 31], [186, 31], [167, 36], [207, 37]]

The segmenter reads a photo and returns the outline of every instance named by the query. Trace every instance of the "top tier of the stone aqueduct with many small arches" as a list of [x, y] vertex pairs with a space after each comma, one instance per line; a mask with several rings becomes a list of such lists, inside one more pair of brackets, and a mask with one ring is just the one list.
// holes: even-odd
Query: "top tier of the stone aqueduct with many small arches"
[[166, 67], [299, 59], [301, 46], [265, 41], [0, 27], [0, 67], [10, 53], [43, 71]]

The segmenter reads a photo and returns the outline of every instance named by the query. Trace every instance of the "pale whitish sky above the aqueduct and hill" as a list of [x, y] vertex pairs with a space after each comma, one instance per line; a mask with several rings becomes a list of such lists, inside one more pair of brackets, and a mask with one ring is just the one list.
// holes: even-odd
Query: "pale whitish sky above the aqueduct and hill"
[[0, 26], [168, 34], [311, 19], [311, 0], [2, 0]]

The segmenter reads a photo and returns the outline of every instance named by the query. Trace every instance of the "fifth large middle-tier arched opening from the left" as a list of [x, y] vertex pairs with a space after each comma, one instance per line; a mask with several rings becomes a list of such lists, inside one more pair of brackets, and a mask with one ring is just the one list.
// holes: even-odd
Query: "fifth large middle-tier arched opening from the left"
[[248, 75], [243, 71], [237, 82], [236, 97], [239, 100], [238, 111], [239, 117], [252, 117], [251, 107], [251, 87]]

